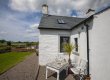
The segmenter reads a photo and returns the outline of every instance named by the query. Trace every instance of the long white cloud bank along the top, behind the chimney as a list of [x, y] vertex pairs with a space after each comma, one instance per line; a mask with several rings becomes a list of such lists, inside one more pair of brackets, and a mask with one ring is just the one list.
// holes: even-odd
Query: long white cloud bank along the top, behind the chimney
[[10, 0], [9, 6], [17, 11], [41, 12], [42, 4], [47, 3], [49, 13], [52, 15], [76, 16], [72, 11], [76, 11], [77, 16], [85, 17], [89, 8], [98, 7], [110, 2], [109, 0]]

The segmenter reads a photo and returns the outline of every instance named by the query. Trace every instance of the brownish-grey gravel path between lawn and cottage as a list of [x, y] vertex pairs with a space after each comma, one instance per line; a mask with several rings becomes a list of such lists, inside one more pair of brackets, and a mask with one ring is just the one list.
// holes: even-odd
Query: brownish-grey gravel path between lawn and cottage
[[38, 68], [38, 57], [33, 54], [15, 67], [0, 75], [0, 80], [35, 80]]

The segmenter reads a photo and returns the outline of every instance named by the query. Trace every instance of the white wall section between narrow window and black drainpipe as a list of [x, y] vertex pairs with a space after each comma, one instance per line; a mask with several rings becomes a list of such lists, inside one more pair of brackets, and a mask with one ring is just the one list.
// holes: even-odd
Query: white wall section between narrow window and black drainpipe
[[78, 53], [79, 53], [80, 58], [87, 60], [86, 28], [84, 27], [83, 24], [80, 25], [78, 28], [72, 30], [71, 43], [73, 44], [75, 44], [74, 38], [78, 38]]

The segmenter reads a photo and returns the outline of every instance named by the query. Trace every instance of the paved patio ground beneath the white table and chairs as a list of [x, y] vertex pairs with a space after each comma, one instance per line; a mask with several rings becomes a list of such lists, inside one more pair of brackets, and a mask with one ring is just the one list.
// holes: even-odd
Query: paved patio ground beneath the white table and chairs
[[[57, 73], [56, 72], [49, 70], [48, 78], [46, 79], [46, 75], [45, 75], [46, 72], [45, 71], [46, 71], [45, 66], [40, 66], [39, 67], [37, 80], [57, 80]], [[59, 80], [75, 80], [75, 79], [73, 78], [72, 74], [69, 74], [69, 75], [66, 76], [66, 71], [63, 70], [60, 73], [60, 79]]]

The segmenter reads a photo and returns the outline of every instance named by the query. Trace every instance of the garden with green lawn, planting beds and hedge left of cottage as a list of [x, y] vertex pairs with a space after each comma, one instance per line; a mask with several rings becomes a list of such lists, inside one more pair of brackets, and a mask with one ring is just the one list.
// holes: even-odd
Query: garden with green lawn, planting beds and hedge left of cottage
[[0, 74], [36, 53], [38, 42], [0, 40]]

